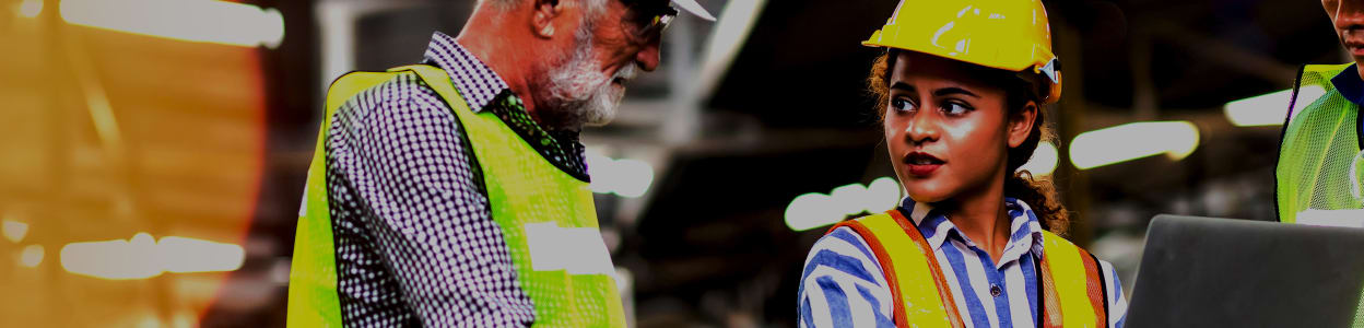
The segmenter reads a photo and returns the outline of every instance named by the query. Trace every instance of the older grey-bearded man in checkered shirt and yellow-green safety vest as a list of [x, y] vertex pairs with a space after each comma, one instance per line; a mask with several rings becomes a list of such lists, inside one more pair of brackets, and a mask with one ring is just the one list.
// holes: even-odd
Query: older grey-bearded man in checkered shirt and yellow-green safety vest
[[625, 327], [584, 124], [659, 66], [694, 0], [480, 0], [423, 64], [327, 92], [291, 327]]

